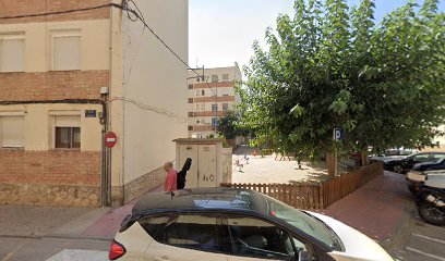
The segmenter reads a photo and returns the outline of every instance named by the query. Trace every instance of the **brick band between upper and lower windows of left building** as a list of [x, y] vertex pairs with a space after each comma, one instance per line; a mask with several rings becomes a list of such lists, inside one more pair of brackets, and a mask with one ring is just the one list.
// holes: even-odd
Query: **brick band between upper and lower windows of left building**
[[0, 73], [0, 101], [99, 99], [109, 71]]

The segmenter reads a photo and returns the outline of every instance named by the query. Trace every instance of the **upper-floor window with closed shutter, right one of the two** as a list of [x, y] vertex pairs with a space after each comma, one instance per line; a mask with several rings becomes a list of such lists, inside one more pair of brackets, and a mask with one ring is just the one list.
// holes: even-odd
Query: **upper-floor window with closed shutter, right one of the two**
[[52, 70], [81, 70], [81, 32], [52, 33]]

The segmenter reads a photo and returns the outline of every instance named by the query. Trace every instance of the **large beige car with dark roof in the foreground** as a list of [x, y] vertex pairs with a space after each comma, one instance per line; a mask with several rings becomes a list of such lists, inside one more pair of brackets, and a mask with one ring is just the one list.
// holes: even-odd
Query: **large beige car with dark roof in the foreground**
[[326, 215], [245, 189], [149, 194], [124, 219], [110, 260], [393, 260], [374, 240]]

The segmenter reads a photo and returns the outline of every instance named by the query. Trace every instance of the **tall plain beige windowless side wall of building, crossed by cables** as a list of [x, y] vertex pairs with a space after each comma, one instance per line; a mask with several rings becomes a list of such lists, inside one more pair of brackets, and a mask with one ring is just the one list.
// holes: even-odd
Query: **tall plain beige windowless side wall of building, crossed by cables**
[[[139, 0], [147, 24], [188, 61], [188, 1]], [[187, 67], [141, 23], [122, 22], [123, 94], [149, 105], [123, 102], [123, 183], [175, 159], [172, 139], [187, 137]], [[175, 116], [173, 116], [175, 115]], [[115, 160], [115, 159], [113, 159]]]

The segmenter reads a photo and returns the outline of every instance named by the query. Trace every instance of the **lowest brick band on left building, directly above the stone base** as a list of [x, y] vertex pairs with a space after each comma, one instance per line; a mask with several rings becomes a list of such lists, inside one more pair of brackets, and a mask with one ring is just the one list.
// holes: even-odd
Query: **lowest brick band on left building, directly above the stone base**
[[0, 183], [100, 185], [101, 152], [0, 150]]

